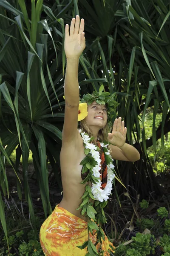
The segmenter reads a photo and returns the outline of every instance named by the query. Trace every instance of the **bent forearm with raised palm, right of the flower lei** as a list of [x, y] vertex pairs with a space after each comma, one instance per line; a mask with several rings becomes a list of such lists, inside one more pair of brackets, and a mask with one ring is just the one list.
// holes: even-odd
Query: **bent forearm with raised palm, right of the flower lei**
[[111, 156], [115, 160], [135, 162], [140, 159], [140, 154], [132, 145], [125, 143], [127, 128], [122, 118], [115, 119], [113, 130], [108, 134], [111, 143]]

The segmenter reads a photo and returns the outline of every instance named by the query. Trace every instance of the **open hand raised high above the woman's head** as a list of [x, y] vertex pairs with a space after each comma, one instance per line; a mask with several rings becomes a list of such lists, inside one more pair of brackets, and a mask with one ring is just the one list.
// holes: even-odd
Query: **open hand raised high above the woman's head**
[[79, 58], [85, 49], [84, 26], [85, 22], [83, 19], [81, 19], [79, 25], [79, 15], [76, 16], [76, 19], [73, 18], [71, 20], [70, 35], [69, 26], [68, 24], [65, 25], [64, 49], [67, 58]]

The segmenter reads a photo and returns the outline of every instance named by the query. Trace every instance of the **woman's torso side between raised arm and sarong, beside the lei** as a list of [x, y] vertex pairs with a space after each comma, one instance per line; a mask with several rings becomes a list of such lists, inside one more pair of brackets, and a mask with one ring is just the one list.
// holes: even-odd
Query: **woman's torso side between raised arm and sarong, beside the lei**
[[86, 221], [85, 216], [81, 215], [81, 210], [76, 210], [82, 202], [81, 197], [85, 191], [85, 185], [80, 184], [82, 182], [82, 165], [80, 163], [85, 157], [85, 153], [82, 137], [80, 134], [78, 135], [76, 145], [63, 145], [61, 149], [63, 198], [59, 206]]

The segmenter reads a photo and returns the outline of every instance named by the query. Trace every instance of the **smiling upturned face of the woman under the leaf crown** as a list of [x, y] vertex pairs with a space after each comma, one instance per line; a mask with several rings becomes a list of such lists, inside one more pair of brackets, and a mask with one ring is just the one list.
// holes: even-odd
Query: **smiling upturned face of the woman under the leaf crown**
[[85, 121], [89, 126], [97, 126], [99, 129], [105, 127], [108, 120], [107, 108], [105, 105], [100, 105], [95, 101], [88, 105], [88, 116]]

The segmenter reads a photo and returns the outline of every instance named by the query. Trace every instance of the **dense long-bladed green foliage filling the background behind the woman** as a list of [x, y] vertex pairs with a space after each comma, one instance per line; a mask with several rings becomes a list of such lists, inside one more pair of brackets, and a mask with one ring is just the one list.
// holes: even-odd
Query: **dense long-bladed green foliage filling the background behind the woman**
[[[11, 198], [12, 186], [18, 203], [28, 205], [34, 230], [39, 227], [30, 180], [40, 191], [44, 218], [53, 209], [51, 175], [56, 191], [62, 191], [64, 29], [77, 14], [85, 19], [86, 38], [79, 59], [80, 96], [101, 84], [116, 92], [127, 143], [141, 154], [136, 163], [116, 163], [130, 204], [138, 194], [169, 200], [156, 177], [164, 178], [170, 169], [169, 9], [168, 0], [0, 0], [0, 220], [6, 238], [3, 202]], [[125, 188], [115, 186], [112, 200], [116, 195], [125, 200]]]

